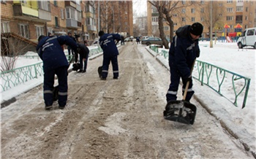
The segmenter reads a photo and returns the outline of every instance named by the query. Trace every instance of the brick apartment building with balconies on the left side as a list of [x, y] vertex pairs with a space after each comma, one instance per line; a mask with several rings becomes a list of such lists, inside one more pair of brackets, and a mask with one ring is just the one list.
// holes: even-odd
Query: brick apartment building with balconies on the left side
[[12, 32], [37, 42], [48, 32], [71, 32], [80, 40], [97, 34], [94, 1], [1, 1], [1, 33]]

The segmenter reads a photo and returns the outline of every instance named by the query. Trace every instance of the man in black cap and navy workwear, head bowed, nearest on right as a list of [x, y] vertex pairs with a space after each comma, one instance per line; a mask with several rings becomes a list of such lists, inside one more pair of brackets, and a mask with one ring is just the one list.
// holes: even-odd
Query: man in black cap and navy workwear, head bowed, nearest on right
[[176, 101], [180, 78], [183, 82], [183, 93], [189, 81], [185, 100], [189, 101], [195, 93], [192, 90], [192, 72], [190, 71], [195, 58], [200, 55], [198, 38], [202, 33], [203, 26], [200, 23], [183, 26], [176, 31], [176, 36], [173, 37], [169, 50], [170, 86], [166, 94], [167, 102]]

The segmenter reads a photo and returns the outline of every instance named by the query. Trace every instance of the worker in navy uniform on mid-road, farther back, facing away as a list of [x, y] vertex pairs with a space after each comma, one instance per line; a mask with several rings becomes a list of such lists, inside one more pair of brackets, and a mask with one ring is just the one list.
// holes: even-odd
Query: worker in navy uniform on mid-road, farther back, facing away
[[102, 77], [101, 80], [106, 80], [108, 77], [108, 66], [110, 61], [113, 67], [113, 79], [118, 79], [118, 49], [115, 40], [121, 40], [119, 34], [105, 34], [104, 31], [99, 31], [99, 44], [103, 50], [103, 64], [102, 64]]

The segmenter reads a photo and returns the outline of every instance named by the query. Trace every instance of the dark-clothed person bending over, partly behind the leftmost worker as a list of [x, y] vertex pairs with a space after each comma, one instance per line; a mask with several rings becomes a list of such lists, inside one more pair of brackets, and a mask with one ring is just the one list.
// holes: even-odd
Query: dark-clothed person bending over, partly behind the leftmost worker
[[89, 58], [89, 48], [85, 44], [78, 43], [78, 54], [80, 57], [80, 70], [78, 72], [86, 72], [87, 62]]

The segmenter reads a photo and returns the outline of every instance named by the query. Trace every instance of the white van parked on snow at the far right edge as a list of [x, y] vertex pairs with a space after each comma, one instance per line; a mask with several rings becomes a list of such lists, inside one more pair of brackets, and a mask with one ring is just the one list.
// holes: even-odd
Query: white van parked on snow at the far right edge
[[256, 28], [246, 28], [242, 36], [237, 40], [239, 48], [252, 46], [256, 49]]

